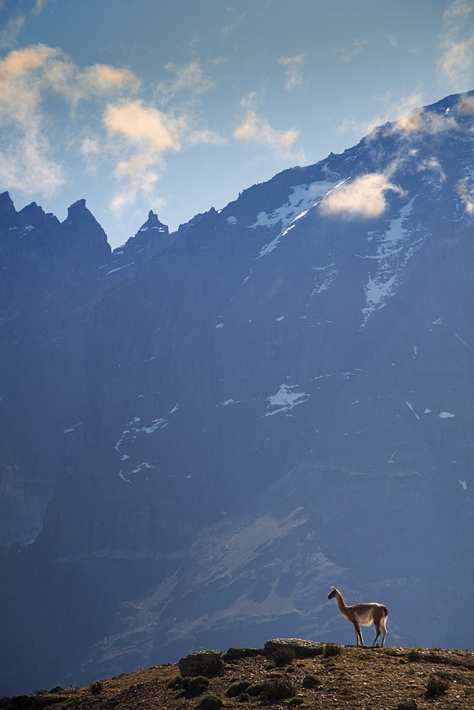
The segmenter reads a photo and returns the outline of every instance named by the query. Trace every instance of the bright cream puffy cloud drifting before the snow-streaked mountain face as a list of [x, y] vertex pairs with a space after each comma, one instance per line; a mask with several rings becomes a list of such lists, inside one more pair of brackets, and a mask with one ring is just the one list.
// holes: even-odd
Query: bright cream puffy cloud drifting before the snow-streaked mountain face
[[345, 219], [375, 219], [387, 209], [385, 192], [403, 193], [384, 173], [368, 173], [331, 190], [321, 202], [321, 212]]

